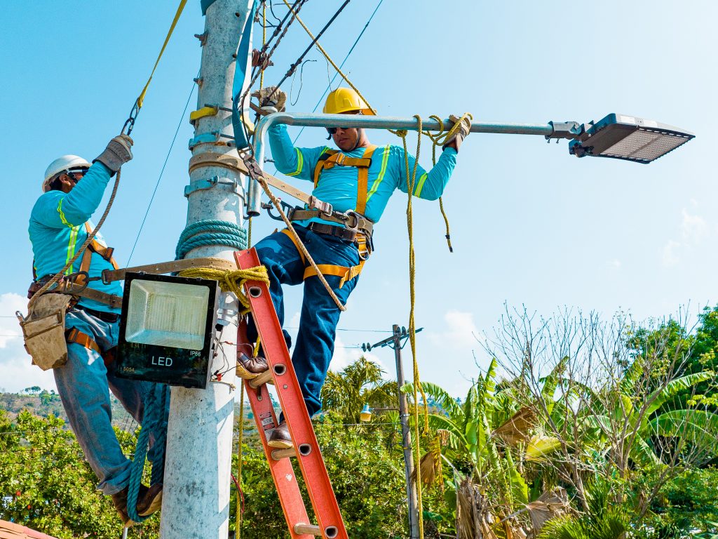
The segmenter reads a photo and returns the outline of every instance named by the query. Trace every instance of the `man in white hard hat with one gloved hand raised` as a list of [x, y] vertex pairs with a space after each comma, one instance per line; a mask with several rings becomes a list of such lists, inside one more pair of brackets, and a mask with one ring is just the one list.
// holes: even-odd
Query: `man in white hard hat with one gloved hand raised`
[[[28, 297], [60, 272], [88, 238], [94, 228], [90, 216], [97, 210], [110, 178], [132, 159], [131, 146], [132, 139], [122, 134], [114, 137], [92, 163], [77, 155], [63, 155], [47, 167], [42, 195], [30, 214], [34, 281]], [[103, 270], [116, 267], [112, 249], [98, 234], [66, 271], [65, 280], [85, 284], [87, 277], [98, 277]], [[118, 282], [106, 285], [102, 280], [90, 280], [88, 288], [101, 292], [101, 298], [122, 295]], [[81, 297], [70, 302], [65, 314], [67, 362], [53, 372], [70, 426], [100, 481], [98, 489], [112, 496], [123, 523], [131, 525], [127, 512], [131, 461], [124, 456], [112, 428], [110, 390], [141, 423], [149, 382], [114, 376], [112, 351], [118, 339], [119, 311], [116, 303], [103, 300]], [[157, 511], [161, 499], [161, 484], [141, 487], [137, 512], [146, 516]]]

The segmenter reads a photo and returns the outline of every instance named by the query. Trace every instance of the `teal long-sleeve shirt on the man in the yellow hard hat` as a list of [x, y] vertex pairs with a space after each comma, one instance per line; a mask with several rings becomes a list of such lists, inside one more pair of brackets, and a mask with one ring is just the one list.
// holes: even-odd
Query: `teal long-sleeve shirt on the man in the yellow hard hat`
[[[302, 180], [314, 181], [314, 167], [320, 156], [329, 148], [296, 148], [292, 139], [286, 132], [283, 124], [272, 126], [269, 129], [269, 146], [271, 147], [274, 165], [277, 170], [288, 176]], [[365, 148], [358, 148], [352, 152], [342, 152], [347, 157], [362, 157]], [[456, 150], [444, 149], [437, 164], [426, 172], [420, 165], [416, 167], [416, 184], [414, 196], [434, 201], [444, 193], [454, 166], [456, 166]], [[409, 155], [409, 173], [414, 170], [414, 157]], [[312, 191], [312, 195], [320, 201], [330, 203], [336, 211], [353, 210], [357, 203], [358, 168], [335, 166], [325, 169], [320, 176], [319, 184]], [[375, 223], [381, 218], [386, 204], [393, 192], [398, 189], [409, 193], [406, 185], [406, 161], [404, 148], [388, 144], [374, 150], [371, 157], [371, 166], [368, 170], [368, 193], [364, 215]], [[311, 221], [321, 221], [319, 218], [299, 221], [307, 226]]]

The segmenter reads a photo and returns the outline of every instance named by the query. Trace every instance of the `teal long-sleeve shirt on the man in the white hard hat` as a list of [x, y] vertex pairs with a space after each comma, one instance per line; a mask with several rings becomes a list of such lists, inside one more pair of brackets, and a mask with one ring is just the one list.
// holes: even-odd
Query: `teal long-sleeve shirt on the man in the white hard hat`
[[[37, 277], [55, 275], [62, 270], [85, 242], [88, 237], [85, 221], [90, 220], [90, 216], [100, 205], [109, 180], [110, 169], [101, 162], [95, 162], [70, 193], [52, 190], [42, 193], [37, 199], [30, 213], [28, 227]], [[94, 226], [90, 226], [90, 229], [93, 228]], [[95, 236], [95, 239], [106, 245], [101, 234]], [[66, 273], [80, 271], [82, 259], [80, 254]], [[90, 277], [99, 277], [103, 270], [112, 269], [110, 262], [93, 252], [88, 272]], [[103, 285], [101, 280], [97, 280], [91, 281], [88, 287], [108, 294], [122, 295], [119, 282]], [[80, 299], [80, 305], [103, 312], [119, 312], [117, 308], [86, 298]]]

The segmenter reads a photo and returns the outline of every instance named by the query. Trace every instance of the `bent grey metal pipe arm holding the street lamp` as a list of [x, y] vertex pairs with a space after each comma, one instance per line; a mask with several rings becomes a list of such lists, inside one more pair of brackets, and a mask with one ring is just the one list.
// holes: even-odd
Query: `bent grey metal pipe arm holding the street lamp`
[[[254, 155], [260, 166], [264, 165], [264, 137], [269, 128], [277, 124], [306, 127], [362, 127], [365, 129], [418, 129], [416, 118], [398, 118], [395, 116], [362, 116], [355, 114], [290, 114], [277, 112], [262, 117], [254, 134]], [[424, 131], [439, 131], [439, 122], [434, 119], [421, 121]], [[444, 129], [451, 126], [444, 120]], [[472, 133], [529, 134], [541, 135], [546, 139], [577, 139], [582, 133], [581, 124], [575, 121], [553, 122], [547, 124], [497, 124], [495, 122], [472, 122]], [[249, 180], [247, 213], [257, 216], [260, 213], [261, 188], [254, 180]]]

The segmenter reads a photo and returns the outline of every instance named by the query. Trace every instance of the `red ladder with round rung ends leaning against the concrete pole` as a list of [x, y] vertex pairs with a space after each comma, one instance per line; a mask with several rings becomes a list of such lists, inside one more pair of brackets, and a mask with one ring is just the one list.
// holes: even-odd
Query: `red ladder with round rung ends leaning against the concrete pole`
[[[241, 270], [260, 265], [254, 249], [236, 252], [235, 258]], [[244, 292], [249, 300], [264, 356], [269, 364], [266, 375], [261, 374], [251, 380], [246, 379], [244, 386], [264, 447], [264, 454], [274, 478], [276, 492], [279, 493], [279, 502], [289, 527], [289, 534], [292, 539], [313, 539], [314, 536], [325, 539], [348, 539], [337, 498], [322, 459], [322, 452], [317, 437], [314, 436], [312, 421], [309, 420], [307, 407], [304, 405], [302, 390], [299, 389], [297, 375], [294, 374], [279, 319], [271, 302], [269, 288], [264, 282], [247, 281]], [[246, 342], [243, 330], [241, 326], [238, 342]], [[267, 445], [268, 431], [279, 424], [266, 387], [267, 382], [272, 379], [281, 410], [284, 412], [284, 420], [292, 435], [294, 443], [292, 448], [275, 449]], [[304, 507], [304, 500], [294, 475], [293, 458], [297, 459], [299, 469], [302, 470], [304, 484], [307, 486], [309, 499], [312, 500], [318, 525], [312, 525], [309, 521], [307, 508]]]

